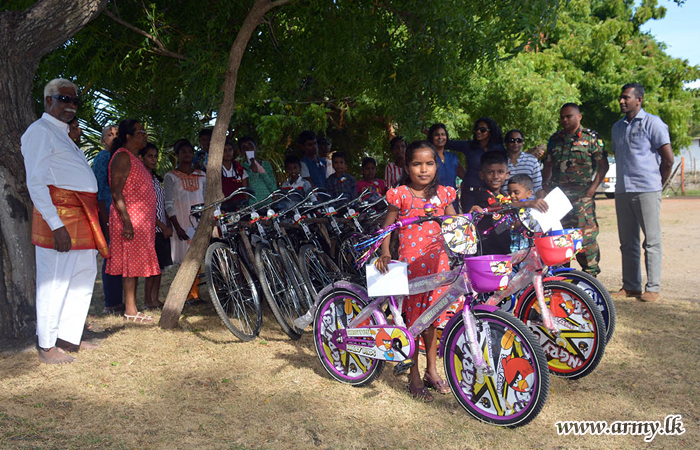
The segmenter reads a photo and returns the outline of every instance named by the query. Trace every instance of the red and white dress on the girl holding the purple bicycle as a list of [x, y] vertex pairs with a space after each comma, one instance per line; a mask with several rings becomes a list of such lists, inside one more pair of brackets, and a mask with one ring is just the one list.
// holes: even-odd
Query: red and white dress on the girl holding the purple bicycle
[[[423, 208], [428, 202], [435, 206], [435, 215], [444, 215], [445, 208], [456, 197], [454, 188], [445, 186], [438, 186], [437, 194], [431, 199], [416, 197], [407, 186], [389, 189], [386, 193], [389, 204], [399, 208], [399, 219], [424, 216]], [[440, 232], [440, 225], [435, 222], [399, 229], [399, 260], [408, 263], [409, 279], [450, 270], [449, 256], [445, 252], [445, 243]], [[403, 303], [406, 324], [410, 326], [434, 300], [437, 300], [444, 289], [446, 288], [409, 295]], [[435, 325], [440, 325], [444, 317], [441, 316]]]

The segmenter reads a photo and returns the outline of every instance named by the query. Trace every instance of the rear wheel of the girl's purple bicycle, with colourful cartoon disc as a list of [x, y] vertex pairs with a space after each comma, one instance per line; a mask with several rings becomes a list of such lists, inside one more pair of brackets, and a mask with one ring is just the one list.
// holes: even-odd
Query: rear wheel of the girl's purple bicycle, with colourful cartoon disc
[[[333, 332], [347, 328], [368, 301], [356, 293], [337, 288], [319, 302], [314, 315], [314, 347], [323, 368], [335, 380], [352, 386], [366, 386], [384, 370], [383, 360], [339, 350], [331, 339]], [[374, 317], [363, 325], [376, 324]]]

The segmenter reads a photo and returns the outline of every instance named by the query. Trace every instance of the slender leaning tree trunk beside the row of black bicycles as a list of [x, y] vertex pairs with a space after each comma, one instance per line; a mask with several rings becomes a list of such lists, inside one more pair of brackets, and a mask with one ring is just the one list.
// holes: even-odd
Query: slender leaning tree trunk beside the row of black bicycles
[[[236, 105], [235, 93], [236, 82], [238, 80], [238, 69], [245, 53], [248, 41], [253, 31], [260, 24], [265, 14], [276, 6], [282, 6], [291, 0], [255, 0], [253, 7], [243, 21], [241, 29], [236, 35], [236, 39], [231, 45], [229, 52], [228, 67], [226, 68], [226, 79], [224, 80], [224, 98], [216, 116], [216, 124], [212, 132], [211, 145], [209, 147], [209, 160], [207, 162], [207, 192], [204, 199], [205, 204], [211, 204], [220, 199], [221, 193], [221, 162], [224, 156], [224, 143], [226, 141], [226, 130], [231, 123], [231, 115]], [[197, 231], [192, 238], [190, 248], [185, 255], [185, 259], [177, 271], [177, 275], [170, 285], [168, 297], [165, 300], [163, 313], [160, 316], [159, 325], [161, 328], [175, 328], [180, 319], [182, 308], [185, 306], [187, 294], [192, 283], [197, 276], [197, 271], [204, 258], [204, 253], [209, 245], [211, 231], [213, 228], [212, 217], [214, 211], [206, 210], [199, 221]]]

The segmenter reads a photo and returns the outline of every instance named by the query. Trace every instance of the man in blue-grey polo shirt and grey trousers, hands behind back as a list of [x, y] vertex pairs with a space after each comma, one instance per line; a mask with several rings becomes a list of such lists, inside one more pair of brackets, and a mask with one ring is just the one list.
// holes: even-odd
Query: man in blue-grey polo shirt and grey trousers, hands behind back
[[[620, 110], [625, 117], [613, 125], [617, 164], [615, 210], [622, 253], [622, 289], [616, 297], [659, 299], [661, 289], [661, 188], [671, 176], [673, 150], [668, 126], [642, 108], [644, 87], [622, 86]], [[639, 230], [644, 232], [647, 283], [642, 293]]]

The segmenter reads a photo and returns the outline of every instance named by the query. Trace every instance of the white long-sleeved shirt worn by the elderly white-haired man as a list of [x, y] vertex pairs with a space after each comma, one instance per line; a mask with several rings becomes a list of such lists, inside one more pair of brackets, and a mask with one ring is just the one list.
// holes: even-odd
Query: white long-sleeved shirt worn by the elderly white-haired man
[[27, 188], [34, 206], [51, 228], [61, 228], [49, 186], [79, 192], [97, 192], [97, 180], [85, 153], [68, 137], [68, 124], [48, 113], [22, 135]]

